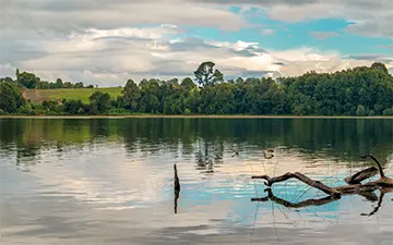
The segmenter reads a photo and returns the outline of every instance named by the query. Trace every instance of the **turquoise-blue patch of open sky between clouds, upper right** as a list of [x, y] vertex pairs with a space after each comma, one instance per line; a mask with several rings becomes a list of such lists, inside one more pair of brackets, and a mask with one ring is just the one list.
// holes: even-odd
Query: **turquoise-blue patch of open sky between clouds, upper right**
[[[238, 12], [238, 8], [231, 10]], [[196, 36], [204, 39], [236, 42], [241, 39], [250, 42], [259, 42], [260, 46], [273, 50], [296, 49], [305, 46], [321, 50], [336, 50], [346, 56], [356, 54], [392, 54], [393, 49], [383, 49], [382, 46], [393, 44], [388, 37], [367, 37], [348, 33], [346, 27], [352, 22], [343, 19], [320, 19], [288, 23], [274, 21], [261, 14], [247, 17], [255, 26], [245, 27], [237, 32], [223, 32], [218, 28], [189, 27], [188, 36]], [[272, 30], [264, 34], [264, 30]], [[313, 35], [315, 34], [315, 35]], [[318, 34], [326, 34], [327, 37], [319, 38]]]

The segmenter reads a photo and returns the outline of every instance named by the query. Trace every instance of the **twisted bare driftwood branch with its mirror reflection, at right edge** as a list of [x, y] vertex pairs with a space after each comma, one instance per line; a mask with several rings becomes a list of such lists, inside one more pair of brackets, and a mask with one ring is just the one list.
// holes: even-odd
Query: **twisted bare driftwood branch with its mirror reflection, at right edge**
[[[318, 199], [318, 200], [313, 199], [313, 200], [309, 200], [308, 203], [303, 203], [303, 204], [300, 203], [300, 204], [294, 205], [294, 204], [288, 203], [285, 205], [288, 207], [290, 207], [290, 206], [294, 206], [294, 207], [309, 206], [310, 204], [319, 204], [319, 201], [322, 201], [322, 203], [327, 201], [327, 198], [334, 200], [334, 199], [340, 199], [342, 195], [353, 195], [353, 194], [362, 195], [367, 199], [376, 199], [376, 196], [373, 196], [370, 193], [376, 189], [393, 187], [393, 179], [384, 175], [381, 163], [373, 156], [366, 155], [361, 158], [367, 158], [367, 157], [371, 158], [377, 163], [378, 169], [372, 167], [372, 168], [362, 170], [360, 172], [357, 172], [354, 175], [346, 177], [345, 182], [348, 185], [343, 185], [343, 186], [330, 187], [330, 186], [321, 183], [320, 181], [311, 180], [310, 177], [308, 177], [305, 174], [299, 173], [299, 172], [295, 172], [295, 173], [288, 172], [284, 175], [275, 176], [275, 177], [270, 177], [269, 175], [254, 175], [251, 177], [264, 180], [265, 185], [267, 185], [270, 187], [274, 183], [277, 183], [277, 182], [284, 182], [289, 179], [297, 179], [297, 180], [303, 182], [305, 184], [308, 184], [311, 187], [318, 188], [329, 195], [326, 197], [326, 199], [325, 198]], [[374, 176], [378, 172], [380, 174], [380, 179], [361, 184], [362, 181], [370, 179], [371, 176]], [[275, 197], [272, 193], [270, 193], [270, 194], [271, 195], [267, 195], [267, 197], [265, 197], [265, 198], [271, 199], [273, 201], [282, 201], [282, 200], [279, 200], [279, 198]], [[383, 196], [382, 196], [382, 198], [383, 198]], [[252, 200], [260, 200], [260, 201], [262, 200], [263, 201], [264, 199], [263, 198], [262, 199], [253, 198]]]

